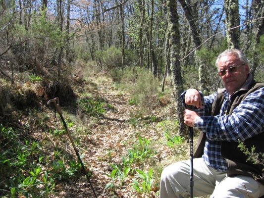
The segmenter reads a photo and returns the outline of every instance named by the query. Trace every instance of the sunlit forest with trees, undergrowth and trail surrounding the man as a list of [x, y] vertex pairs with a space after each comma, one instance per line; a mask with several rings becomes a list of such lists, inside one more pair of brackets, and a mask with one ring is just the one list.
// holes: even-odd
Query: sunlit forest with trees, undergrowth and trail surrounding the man
[[0, 0], [0, 196], [158, 198], [232, 48], [263, 82], [263, 0]]

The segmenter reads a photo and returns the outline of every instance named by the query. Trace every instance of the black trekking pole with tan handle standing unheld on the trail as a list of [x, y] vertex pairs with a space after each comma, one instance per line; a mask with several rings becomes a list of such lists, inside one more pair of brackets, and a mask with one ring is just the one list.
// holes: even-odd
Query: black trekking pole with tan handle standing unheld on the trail
[[82, 162], [82, 159], [80, 157], [80, 154], [79, 154], [77, 148], [75, 147], [74, 141], [73, 141], [73, 139], [72, 139], [72, 137], [71, 137], [71, 135], [70, 135], [70, 133], [68, 131], [66, 122], [65, 122], [65, 120], [64, 120], [64, 118], [62, 116], [62, 111], [61, 111], [61, 108], [59, 107], [59, 99], [57, 97], [54, 98], [54, 99], [50, 99], [47, 104], [48, 105], [52, 105], [53, 104], [55, 113], [56, 113], [56, 111], [58, 112], [58, 114], [60, 116], [60, 119], [61, 119], [61, 121], [62, 121], [62, 123], [63, 123], [63, 125], [65, 127], [66, 132], [67, 132], [67, 135], [68, 135], [68, 137], [69, 137], [69, 139], [71, 141], [71, 144], [73, 146], [73, 149], [75, 150], [75, 153], [76, 153], [76, 155], [78, 157], [78, 160], [79, 160], [79, 162], [80, 162], [80, 164], [81, 164], [81, 166], [83, 168], [83, 172], [84, 172], [84, 174], [85, 174], [85, 176], [86, 176], [86, 178], [87, 178], [87, 180], [88, 180], [88, 182], [89, 182], [89, 184], [90, 184], [90, 186], [91, 186], [91, 188], [93, 190], [93, 193], [94, 193], [95, 198], [97, 198], [97, 195], [96, 195], [95, 189], [94, 189], [94, 187], [93, 187], [93, 185], [91, 183], [90, 177], [87, 174], [87, 171], [86, 171], [86, 169], [85, 169], [85, 167], [83, 165], [83, 162]]

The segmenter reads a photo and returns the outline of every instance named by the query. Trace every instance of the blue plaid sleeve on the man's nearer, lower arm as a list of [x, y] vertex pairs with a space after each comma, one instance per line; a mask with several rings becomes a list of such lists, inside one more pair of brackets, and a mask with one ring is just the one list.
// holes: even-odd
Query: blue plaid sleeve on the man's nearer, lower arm
[[231, 115], [201, 116], [195, 121], [209, 140], [245, 141], [263, 132], [264, 88], [249, 94]]

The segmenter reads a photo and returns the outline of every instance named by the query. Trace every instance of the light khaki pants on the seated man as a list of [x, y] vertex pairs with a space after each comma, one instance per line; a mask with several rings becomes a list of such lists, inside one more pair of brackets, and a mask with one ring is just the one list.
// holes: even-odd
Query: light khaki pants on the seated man
[[[259, 198], [264, 195], [264, 185], [252, 177], [226, 177], [226, 172], [216, 171], [202, 158], [194, 159], [194, 197], [211, 195], [211, 198]], [[160, 198], [190, 197], [190, 160], [167, 166], [161, 173]]]

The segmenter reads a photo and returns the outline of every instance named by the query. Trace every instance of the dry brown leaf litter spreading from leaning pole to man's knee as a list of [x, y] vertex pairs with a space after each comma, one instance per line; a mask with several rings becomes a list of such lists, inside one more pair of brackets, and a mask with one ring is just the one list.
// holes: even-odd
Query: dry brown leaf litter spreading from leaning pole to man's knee
[[[79, 149], [84, 154], [82, 160], [92, 173], [91, 182], [97, 196], [99, 198], [158, 197], [158, 179], [162, 167], [171, 162], [170, 160], [174, 158], [174, 154], [178, 154], [178, 158], [186, 158], [186, 148], [188, 149], [188, 146], [184, 143], [176, 151], [175, 148], [167, 147], [163, 137], [163, 128], [158, 126], [158, 123], [162, 122], [162, 120], [174, 117], [173, 99], [171, 98], [172, 101], [166, 102], [169, 105], [155, 106], [152, 110], [152, 115], [155, 116], [156, 120], [152, 122], [144, 119], [144, 116], [136, 116], [141, 112], [142, 107], [130, 105], [128, 93], [118, 90], [113, 86], [110, 79], [102, 77], [102, 79], [98, 80], [98, 78], [90, 79], [90, 82], [93, 82], [94, 85], [96, 84], [97, 88], [88, 90], [88, 92], [92, 91], [94, 96], [103, 98], [110, 104], [111, 108], [106, 109], [106, 112], [97, 118], [88, 116], [87, 120], [83, 119], [85, 121], [83, 123], [85, 133], [73, 134], [80, 141]], [[86, 86], [84, 86], [84, 89], [86, 89]], [[73, 132], [76, 131], [74, 127], [71, 130]], [[172, 133], [175, 133], [175, 131]], [[138, 136], [151, 139], [155, 155], [141, 163], [134, 164], [132, 168], [148, 170], [152, 167], [156, 172], [155, 185], [157, 187], [154, 185], [151, 193], [137, 193], [130, 185], [134, 178], [134, 173], [131, 171], [131, 174], [126, 177], [123, 186], [118, 184], [117, 179], [115, 181], [116, 188], [106, 190], [106, 184], [111, 182], [110, 178], [106, 176], [112, 170], [110, 164], [120, 164], [121, 156], [127, 155], [127, 150], [137, 143]], [[67, 143], [70, 144], [69, 141]], [[70, 147], [70, 145], [68, 146]], [[58, 185], [55, 192], [55, 198], [93, 197], [91, 187], [84, 176]]]

